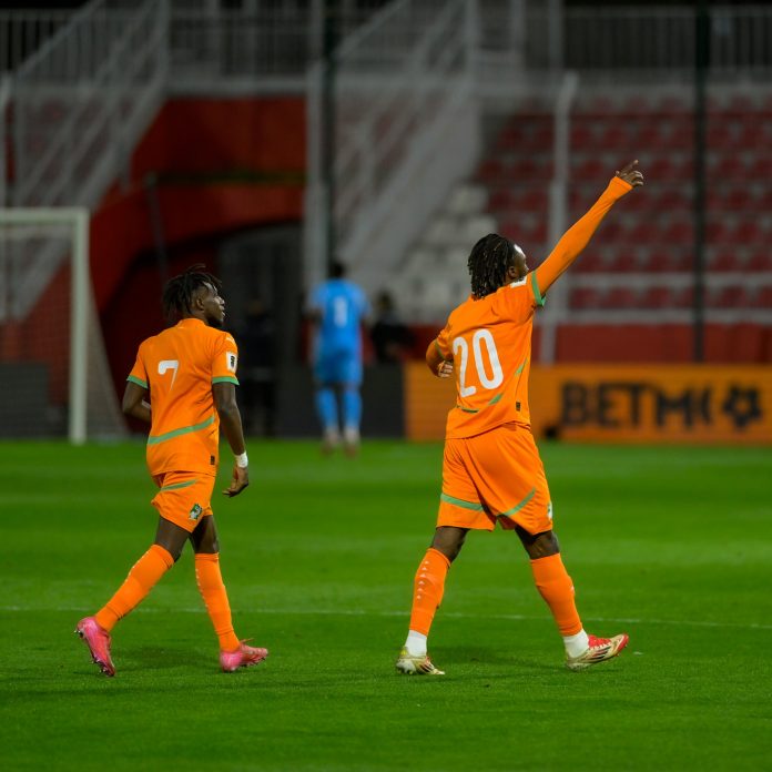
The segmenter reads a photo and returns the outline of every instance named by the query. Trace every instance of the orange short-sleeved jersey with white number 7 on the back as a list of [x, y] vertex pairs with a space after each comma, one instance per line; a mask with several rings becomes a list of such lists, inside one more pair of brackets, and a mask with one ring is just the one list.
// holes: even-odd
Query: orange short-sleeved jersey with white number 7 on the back
[[220, 417], [212, 385], [238, 384], [238, 349], [228, 333], [201, 319], [182, 319], [140, 345], [129, 380], [150, 390], [151, 475], [216, 474]]

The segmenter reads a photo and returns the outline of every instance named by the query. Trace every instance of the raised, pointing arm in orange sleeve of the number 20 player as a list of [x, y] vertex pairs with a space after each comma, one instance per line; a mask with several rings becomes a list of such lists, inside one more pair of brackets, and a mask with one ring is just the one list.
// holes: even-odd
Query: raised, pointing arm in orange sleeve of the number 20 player
[[544, 295], [555, 281], [581, 254], [592, 234], [609, 210], [633, 187], [643, 184], [643, 175], [636, 169], [638, 161], [629, 163], [611, 179], [600, 199], [587, 214], [566, 231], [545, 262], [536, 270], [539, 292]]

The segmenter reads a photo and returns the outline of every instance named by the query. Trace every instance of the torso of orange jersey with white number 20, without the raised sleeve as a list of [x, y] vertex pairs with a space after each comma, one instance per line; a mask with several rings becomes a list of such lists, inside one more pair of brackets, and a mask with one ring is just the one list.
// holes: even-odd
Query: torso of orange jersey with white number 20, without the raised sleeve
[[531, 272], [486, 297], [458, 306], [437, 337], [445, 359], [453, 359], [456, 406], [446, 437], [473, 437], [501, 424], [530, 426], [528, 375], [534, 312], [544, 305]]

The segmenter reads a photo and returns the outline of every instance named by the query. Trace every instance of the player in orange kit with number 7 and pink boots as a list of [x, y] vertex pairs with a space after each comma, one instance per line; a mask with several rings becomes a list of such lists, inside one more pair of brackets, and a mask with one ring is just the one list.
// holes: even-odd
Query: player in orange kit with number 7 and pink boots
[[[211, 496], [217, 474], [220, 427], [235, 456], [233, 478], [223, 491], [237, 496], [250, 484], [235, 386], [238, 349], [221, 329], [225, 302], [220, 281], [195, 265], [170, 280], [164, 312], [180, 321], [140, 345], [123, 395], [123, 412], [150, 423], [148, 468], [159, 487], [155, 541], [134, 563], [118, 592], [75, 632], [105, 676], [114, 676], [110, 632], [175, 563], [185, 541], [195, 552], [195, 575], [220, 639], [226, 672], [262, 662], [266, 649], [240, 641], [220, 572], [220, 545]], [[146, 397], [150, 395], [150, 403]]]

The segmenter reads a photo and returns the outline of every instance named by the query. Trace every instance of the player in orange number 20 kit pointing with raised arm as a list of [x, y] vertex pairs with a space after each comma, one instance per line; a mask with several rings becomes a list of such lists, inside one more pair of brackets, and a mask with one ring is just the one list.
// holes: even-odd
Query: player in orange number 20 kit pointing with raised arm
[[573, 585], [552, 530], [552, 504], [530, 431], [528, 374], [536, 308], [585, 248], [611, 206], [643, 184], [637, 161], [617, 172], [590, 211], [532, 272], [520, 247], [489, 234], [469, 255], [471, 295], [449, 316], [426, 353], [439, 377], [456, 375], [457, 402], [447, 420], [437, 529], [415, 577], [410, 628], [397, 659], [404, 673], [441, 676], [426, 641], [450, 563], [469, 530], [514, 530], [530, 557], [536, 587], [549, 606], [570, 670], [616, 657], [624, 633], [585, 632]]

